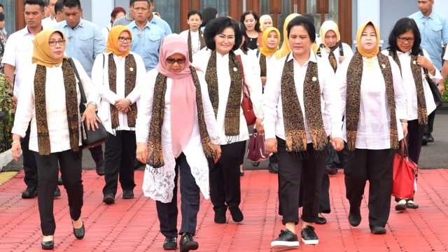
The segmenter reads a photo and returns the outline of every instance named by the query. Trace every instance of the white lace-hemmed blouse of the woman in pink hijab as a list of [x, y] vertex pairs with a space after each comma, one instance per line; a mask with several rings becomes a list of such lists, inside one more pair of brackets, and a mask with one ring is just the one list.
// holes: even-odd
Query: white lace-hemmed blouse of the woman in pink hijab
[[[154, 85], [155, 79], [158, 76], [157, 69], [148, 71], [146, 75], [147, 84], [141, 86], [141, 98], [139, 113], [137, 115], [137, 123], [135, 134], [137, 143], [147, 144], [149, 127], [151, 125], [151, 118], [153, 112], [154, 102]], [[204, 80], [204, 74], [197, 71], [197, 76], [201, 83], [202, 104], [204, 106], [204, 120], [207, 125], [207, 132], [212, 144], [219, 144], [218, 127], [216, 125], [213, 107], [211, 106], [209, 93], [207, 91], [207, 84]], [[172, 78], [167, 78], [167, 91], [165, 93], [165, 111], [162, 125], [162, 151], [165, 165], [158, 168], [158, 172], [152, 172], [149, 165], [146, 165], [143, 191], [146, 197], [151, 197], [153, 200], [160, 200], [167, 203], [172, 201], [174, 189], [174, 167], [176, 160], [172, 151], [172, 132], [171, 132], [171, 90]], [[196, 113], [197, 115], [197, 113]], [[190, 141], [183, 149], [186, 155], [188, 165], [191, 168], [191, 174], [195, 177], [195, 182], [199, 186], [202, 195], [205, 199], [209, 198], [209, 166], [207, 158], [205, 157], [202, 148], [201, 136], [199, 131], [199, 123], [197, 116], [195, 116], [195, 126], [190, 137]]]

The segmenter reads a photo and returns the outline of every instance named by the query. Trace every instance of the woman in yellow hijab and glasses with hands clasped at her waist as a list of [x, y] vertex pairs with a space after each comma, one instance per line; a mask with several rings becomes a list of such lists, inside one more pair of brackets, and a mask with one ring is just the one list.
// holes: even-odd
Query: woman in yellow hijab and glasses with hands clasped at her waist
[[92, 68], [92, 81], [99, 96], [98, 116], [109, 133], [104, 151], [103, 202], [113, 204], [120, 176], [123, 199], [134, 197], [135, 121], [139, 85], [146, 76], [143, 59], [131, 52], [132, 32], [123, 25], [111, 29], [106, 52], [98, 55]]

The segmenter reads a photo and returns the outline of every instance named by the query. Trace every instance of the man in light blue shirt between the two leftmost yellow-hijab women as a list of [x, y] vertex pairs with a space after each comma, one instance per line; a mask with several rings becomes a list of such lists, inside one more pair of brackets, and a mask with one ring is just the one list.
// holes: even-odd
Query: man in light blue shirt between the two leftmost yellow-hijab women
[[[92, 66], [95, 57], [106, 50], [106, 41], [97, 25], [83, 20], [83, 9], [79, 0], [64, 0], [65, 20], [57, 23], [55, 29], [64, 31], [67, 38], [65, 53], [78, 59], [85, 72], [92, 77]], [[96, 105], [96, 104], [95, 104]], [[104, 175], [104, 156], [102, 146], [89, 149], [95, 161], [97, 174]]]

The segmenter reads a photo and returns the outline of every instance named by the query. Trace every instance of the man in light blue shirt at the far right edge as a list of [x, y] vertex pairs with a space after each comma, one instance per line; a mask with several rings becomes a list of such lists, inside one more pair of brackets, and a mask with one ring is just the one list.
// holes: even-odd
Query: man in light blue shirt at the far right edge
[[[448, 20], [444, 15], [433, 11], [434, 0], [418, 0], [419, 10], [409, 16], [415, 20], [421, 34], [421, 47], [428, 52], [431, 61], [437, 69], [442, 69], [442, 47], [448, 43]], [[448, 65], [447, 65], [448, 68]], [[446, 78], [442, 70], [442, 77]], [[442, 78], [439, 90], [443, 92], [444, 78]], [[423, 134], [423, 145], [433, 142], [433, 125], [435, 111], [428, 116], [428, 132]]]

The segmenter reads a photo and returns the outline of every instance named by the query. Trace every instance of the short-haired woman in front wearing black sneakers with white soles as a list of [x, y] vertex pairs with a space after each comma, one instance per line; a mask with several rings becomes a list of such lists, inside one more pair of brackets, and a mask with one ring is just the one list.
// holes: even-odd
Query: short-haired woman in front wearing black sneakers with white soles
[[279, 214], [285, 230], [271, 242], [273, 248], [299, 246], [299, 190], [303, 184], [302, 241], [318, 244], [314, 223], [318, 217], [326, 148], [341, 151], [341, 99], [332, 83], [335, 73], [316, 57], [312, 22], [305, 17], [290, 20], [287, 27], [291, 52], [276, 62], [267, 78], [264, 94], [267, 151], [279, 162]]

